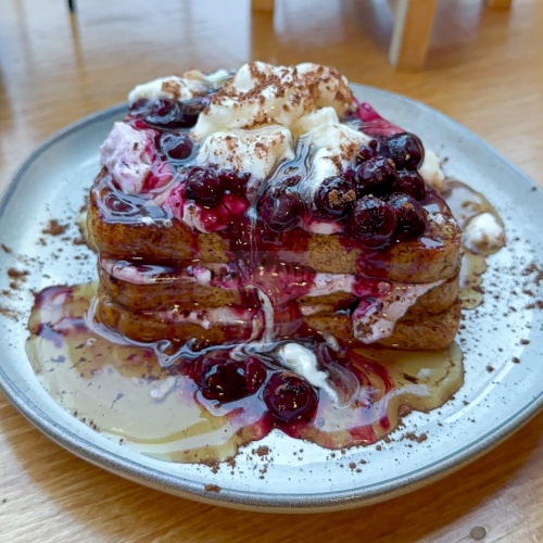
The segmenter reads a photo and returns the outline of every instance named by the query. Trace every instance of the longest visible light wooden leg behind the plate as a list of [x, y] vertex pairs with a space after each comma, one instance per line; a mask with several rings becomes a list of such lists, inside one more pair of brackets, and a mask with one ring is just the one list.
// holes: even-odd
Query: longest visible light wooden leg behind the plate
[[397, 70], [425, 64], [438, 0], [399, 0], [389, 47], [389, 61]]

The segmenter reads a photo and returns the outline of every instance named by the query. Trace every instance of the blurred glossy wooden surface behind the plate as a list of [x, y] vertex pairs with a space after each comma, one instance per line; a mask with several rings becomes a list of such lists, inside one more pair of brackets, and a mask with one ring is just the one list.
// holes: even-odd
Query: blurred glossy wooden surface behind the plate
[[[421, 0], [424, 1], [424, 0]], [[392, 0], [2, 0], [0, 166], [2, 184], [45, 137], [125, 100], [137, 83], [191, 67], [236, 68], [248, 60], [330, 64], [350, 80], [429, 103], [478, 131], [532, 177], [531, 138], [508, 141], [518, 116], [543, 111], [543, 2], [438, 2], [422, 70], [400, 72], [387, 52]], [[492, 106], [492, 114], [489, 111]]]

